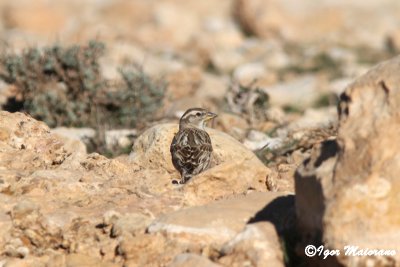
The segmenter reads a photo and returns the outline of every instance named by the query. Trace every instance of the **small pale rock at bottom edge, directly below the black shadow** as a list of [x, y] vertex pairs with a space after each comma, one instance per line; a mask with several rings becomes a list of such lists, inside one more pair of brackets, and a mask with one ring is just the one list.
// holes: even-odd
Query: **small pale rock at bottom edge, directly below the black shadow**
[[284, 266], [283, 253], [273, 224], [248, 224], [222, 248], [224, 266]]

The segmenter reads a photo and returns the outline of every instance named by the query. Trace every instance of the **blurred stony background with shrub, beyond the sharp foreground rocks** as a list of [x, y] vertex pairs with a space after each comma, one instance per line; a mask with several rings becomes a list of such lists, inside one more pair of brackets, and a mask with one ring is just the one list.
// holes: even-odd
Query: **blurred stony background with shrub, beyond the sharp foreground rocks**
[[[93, 128], [89, 151], [108, 156], [191, 106], [230, 114], [217, 128], [260, 149], [252, 130], [285, 137], [307, 110], [326, 117], [345, 85], [400, 40], [400, 4], [390, 0], [17, 0], [0, 9], [2, 108]], [[233, 99], [233, 83], [251, 92]], [[247, 123], [226, 127], [232, 116]]]

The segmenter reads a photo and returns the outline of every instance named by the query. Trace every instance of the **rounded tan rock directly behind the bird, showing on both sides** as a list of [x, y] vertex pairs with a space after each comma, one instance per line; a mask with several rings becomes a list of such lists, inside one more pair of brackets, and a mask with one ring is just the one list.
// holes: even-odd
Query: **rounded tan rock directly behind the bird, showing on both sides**
[[[135, 141], [130, 155], [133, 163], [142, 169], [169, 174], [157, 177], [162, 188], [168, 187], [172, 179], [179, 178], [169, 151], [177, 131], [178, 125], [175, 124], [160, 124], [150, 128]], [[179, 189], [187, 204], [203, 204], [248, 190], [267, 190], [265, 182], [270, 171], [253, 152], [223, 132], [214, 129], [207, 129], [207, 132], [214, 148], [214, 167], [193, 177]]]

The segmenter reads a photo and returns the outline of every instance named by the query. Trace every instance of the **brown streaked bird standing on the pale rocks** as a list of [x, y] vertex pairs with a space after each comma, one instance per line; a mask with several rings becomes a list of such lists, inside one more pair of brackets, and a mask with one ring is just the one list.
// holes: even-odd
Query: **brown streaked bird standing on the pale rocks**
[[217, 114], [205, 109], [190, 108], [180, 118], [179, 130], [170, 146], [172, 163], [181, 175], [179, 184], [210, 167], [213, 147], [205, 124], [215, 117]]

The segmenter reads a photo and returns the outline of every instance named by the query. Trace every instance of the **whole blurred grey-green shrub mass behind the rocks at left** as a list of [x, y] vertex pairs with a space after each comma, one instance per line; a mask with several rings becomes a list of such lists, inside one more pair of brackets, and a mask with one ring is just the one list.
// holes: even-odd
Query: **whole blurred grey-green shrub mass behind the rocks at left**
[[90, 41], [0, 55], [0, 79], [21, 96], [3, 108], [27, 112], [50, 127], [94, 128], [98, 137], [91, 146], [102, 152], [105, 130], [143, 128], [156, 118], [167, 86], [139, 67], [121, 68], [120, 79], [106, 80], [99, 64], [104, 53], [103, 43]]

